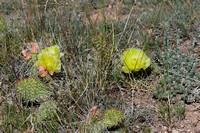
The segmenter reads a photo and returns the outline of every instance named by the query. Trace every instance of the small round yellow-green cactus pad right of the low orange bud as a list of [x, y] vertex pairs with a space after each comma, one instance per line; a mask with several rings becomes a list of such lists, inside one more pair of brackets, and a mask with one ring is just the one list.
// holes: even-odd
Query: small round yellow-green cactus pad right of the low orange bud
[[124, 115], [120, 110], [107, 110], [103, 117], [103, 124], [105, 127], [117, 126], [122, 123]]

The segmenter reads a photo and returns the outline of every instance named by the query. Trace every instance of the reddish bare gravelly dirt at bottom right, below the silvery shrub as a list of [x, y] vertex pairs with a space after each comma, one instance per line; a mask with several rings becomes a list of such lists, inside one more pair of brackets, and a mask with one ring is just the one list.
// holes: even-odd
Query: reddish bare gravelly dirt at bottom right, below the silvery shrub
[[[160, 107], [158, 101], [152, 98], [151, 94], [135, 94], [135, 96], [126, 97], [128, 104], [134, 106], [137, 111], [138, 109], [145, 109], [145, 113], [149, 112], [150, 116], [143, 121], [136, 121], [131, 127], [132, 131], [141, 132], [141, 125], [149, 127], [151, 131], [162, 132], [162, 133], [197, 133], [200, 132], [200, 103], [192, 103], [185, 105], [185, 118], [182, 120], [176, 120], [170, 126], [159, 117]], [[133, 114], [134, 115], [134, 114]]]

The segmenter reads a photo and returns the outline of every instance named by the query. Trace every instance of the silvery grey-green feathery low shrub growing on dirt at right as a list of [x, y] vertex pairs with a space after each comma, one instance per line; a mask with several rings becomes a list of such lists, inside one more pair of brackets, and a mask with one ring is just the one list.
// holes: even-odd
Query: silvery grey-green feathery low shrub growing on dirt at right
[[161, 99], [172, 98], [177, 94], [187, 102], [195, 102], [200, 100], [200, 73], [196, 72], [197, 57], [193, 52], [195, 41], [191, 48], [187, 46], [185, 53], [181, 53], [179, 48], [179, 40], [177, 40], [176, 48], [169, 46], [169, 41], [164, 42], [164, 52], [159, 52], [158, 59], [161, 63], [160, 70], [163, 77], [160, 85], [154, 91], [154, 97]]

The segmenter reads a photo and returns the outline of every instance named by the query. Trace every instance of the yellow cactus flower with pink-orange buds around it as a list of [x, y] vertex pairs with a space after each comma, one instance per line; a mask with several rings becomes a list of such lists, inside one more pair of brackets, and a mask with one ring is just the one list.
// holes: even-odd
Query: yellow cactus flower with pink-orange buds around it
[[35, 62], [35, 66], [39, 69], [41, 66], [48, 71], [51, 75], [54, 72], [60, 72], [61, 62], [60, 58], [63, 56], [63, 53], [60, 53], [58, 46], [51, 46], [42, 50], [38, 54], [38, 60]]

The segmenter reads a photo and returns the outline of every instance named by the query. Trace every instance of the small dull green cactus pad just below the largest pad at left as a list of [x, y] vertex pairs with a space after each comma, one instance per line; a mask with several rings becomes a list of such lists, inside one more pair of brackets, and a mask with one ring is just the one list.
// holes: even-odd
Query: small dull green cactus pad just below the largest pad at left
[[53, 101], [47, 101], [40, 105], [33, 122], [40, 123], [43, 120], [50, 120], [56, 118], [57, 104]]

